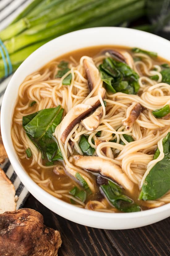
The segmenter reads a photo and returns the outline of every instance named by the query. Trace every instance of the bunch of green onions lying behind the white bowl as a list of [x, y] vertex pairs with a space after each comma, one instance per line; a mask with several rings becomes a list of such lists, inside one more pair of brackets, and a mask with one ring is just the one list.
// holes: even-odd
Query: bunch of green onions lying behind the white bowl
[[[142, 16], [145, 6], [145, 0], [69, 0], [69, 2], [68, 0], [62, 2], [34, 0], [15, 19], [15, 23], [0, 32], [1, 39], [3, 36], [6, 38], [6, 34], [10, 37], [4, 44], [10, 54], [13, 71], [34, 50], [57, 36], [82, 28], [119, 25], [126, 20]], [[79, 9], [71, 2], [77, 3]], [[68, 7], [73, 11], [70, 12]], [[63, 15], [65, 11], [67, 14]], [[30, 27], [31, 19], [28, 20], [28, 17], [36, 13], [39, 15], [35, 16], [35, 22], [32, 18]], [[53, 16], [51, 19], [49, 13], [56, 13], [55, 18]], [[24, 22], [26, 25], [23, 25]], [[24, 26], [25, 31], [23, 31]], [[0, 57], [0, 79], [4, 77], [4, 73], [4, 64]]]

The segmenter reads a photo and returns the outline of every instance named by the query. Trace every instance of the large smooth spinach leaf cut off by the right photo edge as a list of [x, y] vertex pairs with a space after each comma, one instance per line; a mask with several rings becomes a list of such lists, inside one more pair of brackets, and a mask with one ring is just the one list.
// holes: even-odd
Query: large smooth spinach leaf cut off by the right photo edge
[[[147, 175], [139, 195], [142, 200], [156, 200], [170, 190], [170, 133], [163, 140], [164, 158]], [[156, 150], [154, 159], [159, 156]]]

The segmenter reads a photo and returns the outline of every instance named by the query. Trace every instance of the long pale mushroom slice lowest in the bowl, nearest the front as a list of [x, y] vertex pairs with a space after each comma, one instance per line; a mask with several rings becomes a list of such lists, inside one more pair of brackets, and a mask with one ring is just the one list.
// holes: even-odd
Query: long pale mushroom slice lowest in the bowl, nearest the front
[[133, 192], [134, 183], [123, 173], [121, 167], [112, 161], [102, 159], [98, 156], [74, 155], [73, 158], [76, 166], [92, 172], [100, 172], [101, 175], [117, 182], [130, 193]]

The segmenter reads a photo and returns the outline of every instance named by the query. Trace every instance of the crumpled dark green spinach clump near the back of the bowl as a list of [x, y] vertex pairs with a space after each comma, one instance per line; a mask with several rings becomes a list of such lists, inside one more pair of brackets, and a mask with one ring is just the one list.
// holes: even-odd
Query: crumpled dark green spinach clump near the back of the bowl
[[99, 66], [99, 71], [107, 91], [126, 94], [138, 92], [139, 76], [127, 64], [108, 57]]

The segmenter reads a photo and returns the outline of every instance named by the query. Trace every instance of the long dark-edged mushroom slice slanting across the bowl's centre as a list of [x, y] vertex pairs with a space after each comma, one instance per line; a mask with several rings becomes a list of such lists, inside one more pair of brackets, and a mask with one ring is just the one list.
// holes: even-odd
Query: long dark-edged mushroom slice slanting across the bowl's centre
[[[101, 97], [104, 99], [106, 90], [104, 88], [99, 89]], [[60, 139], [62, 143], [65, 143], [67, 136], [74, 128], [74, 126], [89, 115], [93, 110], [100, 106], [99, 96], [94, 96], [87, 99], [84, 103], [74, 106], [64, 117], [60, 124]]]

